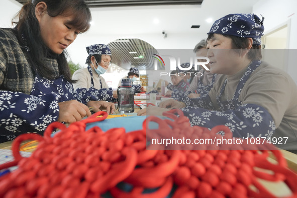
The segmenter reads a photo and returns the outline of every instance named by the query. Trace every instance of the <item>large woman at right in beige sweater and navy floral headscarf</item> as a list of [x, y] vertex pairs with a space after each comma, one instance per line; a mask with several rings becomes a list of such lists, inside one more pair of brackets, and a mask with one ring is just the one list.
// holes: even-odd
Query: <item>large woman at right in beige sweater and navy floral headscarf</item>
[[263, 20], [254, 14], [230, 14], [215, 21], [208, 33], [210, 69], [225, 75], [205, 97], [184, 103], [168, 100], [138, 115], [178, 108], [191, 125], [225, 125], [234, 137], [270, 142], [275, 137], [277, 147], [296, 150], [297, 86], [286, 72], [260, 60], [263, 31]]

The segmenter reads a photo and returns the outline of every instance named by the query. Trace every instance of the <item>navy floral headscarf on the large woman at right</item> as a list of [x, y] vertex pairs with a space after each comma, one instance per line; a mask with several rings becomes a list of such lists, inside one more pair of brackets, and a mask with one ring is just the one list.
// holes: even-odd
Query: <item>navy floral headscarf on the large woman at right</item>
[[262, 20], [254, 14], [230, 14], [215, 21], [208, 34], [232, 35], [252, 38], [253, 45], [261, 45], [264, 26]]

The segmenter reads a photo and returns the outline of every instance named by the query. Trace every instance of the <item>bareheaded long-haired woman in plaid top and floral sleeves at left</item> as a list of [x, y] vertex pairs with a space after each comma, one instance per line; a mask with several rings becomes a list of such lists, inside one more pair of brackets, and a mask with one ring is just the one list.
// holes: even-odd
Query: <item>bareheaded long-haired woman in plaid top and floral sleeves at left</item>
[[35, 0], [22, 7], [15, 28], [0, 28], [0, 142], [79, 121], [91, 115], [88, 106], [114, 111], [112, 103], [79, 103], [73, 93], [65, 49], [90, 21], [83, 0]]

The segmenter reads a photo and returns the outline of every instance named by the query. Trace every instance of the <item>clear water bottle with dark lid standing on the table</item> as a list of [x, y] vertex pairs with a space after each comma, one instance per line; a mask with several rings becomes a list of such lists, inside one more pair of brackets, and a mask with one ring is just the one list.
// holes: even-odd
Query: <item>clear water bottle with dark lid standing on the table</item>
[[130, 78], [123, 78], [118, 88], [118, 108], [123, 114], [134, 112], [134, 88]]

